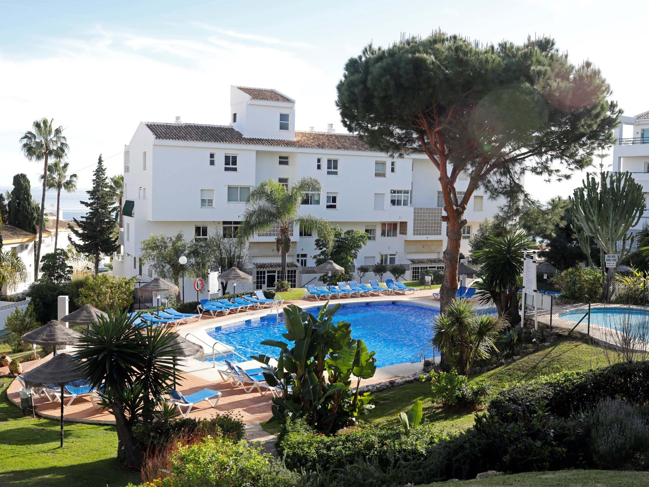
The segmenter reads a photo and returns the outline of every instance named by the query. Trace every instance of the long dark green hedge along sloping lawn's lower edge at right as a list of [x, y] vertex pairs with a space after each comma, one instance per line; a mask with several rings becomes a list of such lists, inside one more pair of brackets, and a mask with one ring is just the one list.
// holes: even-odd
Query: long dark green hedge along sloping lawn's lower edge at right
[[545, 402], [552, 414], [567, 418], [574, 411], [593, 408], [607, 397], [632, 403], [648, 401], [649, 362], [624, 362], [606, 368], [548, 375], [501, 391], [491, 400], [487, 411], [502, 421], [509, 421], [524, 406]]

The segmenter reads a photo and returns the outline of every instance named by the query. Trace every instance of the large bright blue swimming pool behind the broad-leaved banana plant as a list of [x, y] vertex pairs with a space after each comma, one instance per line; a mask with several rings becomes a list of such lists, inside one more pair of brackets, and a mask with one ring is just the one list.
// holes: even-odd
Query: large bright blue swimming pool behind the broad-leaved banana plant
[[[317, 316], [320, 309], [321, 306], [314, 306], [305, 311]], [[334, 320], [351, 323], [352, 338], [360, 338], [369, 350], [376, 351], [376, 365], [385, 367], [412, 362], [415, 355], [433, 338], [432, 324], [437, 316], [439, 310], [427, 306], [374, 301], [343, 305], [334, 315]], [[286, 342], [282, 336], [282, 333], [286, 333], [286, 327], [281, 314], [279, 320], [275, 314], [269, 314], [234, 325], [207, 329], [206, 333], [214, 340], [234, 347], [246, 358], [258, 353], [277, 358], [279, 349], [260, 345], [260, 342]], [[432, 352], [427, 351], [426, 358], [430, 355]], [[241, 360], [236, 355], [225, 358], [237, 362]], [[223, 358], [217, 357], [217, 360]]]

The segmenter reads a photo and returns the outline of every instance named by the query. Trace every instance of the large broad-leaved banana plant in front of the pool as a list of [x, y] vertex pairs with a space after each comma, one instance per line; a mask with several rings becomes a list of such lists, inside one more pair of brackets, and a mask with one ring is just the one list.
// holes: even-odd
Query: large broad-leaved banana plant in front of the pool
[[[287, 342], [264, 340], [262, 345], [280, 349], [277, 366], [267, 355], [252, 356], [262, 362], [263, 377], [282, 390], [273, 398], [273, 417], [304, 417], [315, 429], [336, 431], [371, 409], [371, 396], [358, 394], [360, 379], [373, 377], [374, 352], [362, 340], [352, 338], [351, 324], [334, 323], [340, 305], [320, 310], [317, 318], [295, 305], [284, 308], [282, 336]], [[360, 374], [360, 376], [359, 376]], [[352, 375], [359, 377], [356, 392], [350, 391]]]

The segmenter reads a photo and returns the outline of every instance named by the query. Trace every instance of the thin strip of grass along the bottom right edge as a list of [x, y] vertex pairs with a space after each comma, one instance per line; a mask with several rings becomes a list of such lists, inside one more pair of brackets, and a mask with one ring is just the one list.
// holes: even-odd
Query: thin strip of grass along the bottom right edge
[[648, 478], [647, 472], [561, 470], [517, 473], [484, 480], [435, 482], [425, 487], [644, 487]]

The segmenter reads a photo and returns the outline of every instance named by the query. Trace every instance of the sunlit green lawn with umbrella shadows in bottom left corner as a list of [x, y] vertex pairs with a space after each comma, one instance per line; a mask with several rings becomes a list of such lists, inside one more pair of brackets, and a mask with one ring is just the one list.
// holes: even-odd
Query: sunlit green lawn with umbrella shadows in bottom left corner
[[0, 384], [0, 479], [6, 486], [123, 487], [140, 481], [140, 473], [120, 470], [117, 433], [113, 427], [65, 423], [60, 448], [60, 423], [23, 417], [10, 405]]

